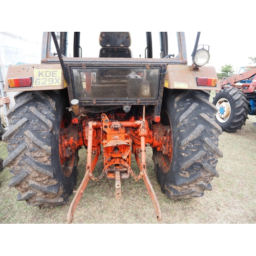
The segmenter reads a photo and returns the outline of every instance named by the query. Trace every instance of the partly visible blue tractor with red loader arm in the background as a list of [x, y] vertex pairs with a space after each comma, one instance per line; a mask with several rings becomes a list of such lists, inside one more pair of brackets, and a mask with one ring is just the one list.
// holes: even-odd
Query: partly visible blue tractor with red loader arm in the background
[[[225, 132], [236, 132], [248, 115], [256, 115], [256, 68], [242, 67], [239, 74], [222, 80], [222, 90], [212, 103], [217, 107], [216, 122]], [[256, 126], [256, 123], [253, 123]]]

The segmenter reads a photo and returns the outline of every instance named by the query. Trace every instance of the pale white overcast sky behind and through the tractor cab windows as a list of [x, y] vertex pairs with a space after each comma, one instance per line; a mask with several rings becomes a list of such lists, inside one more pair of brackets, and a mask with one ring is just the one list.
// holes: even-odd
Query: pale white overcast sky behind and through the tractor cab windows
[[[100, 30], [99, 30], [100, 31]], [[115, 30], [114, 30], [115, 31]], [[153, 30], [154, 31], [154, 30]], [[12, 30], [8, 31], [16, 35], [20, 35], [28, 40], [37, 41], [41, 43], [42, 39], [42, 32], [40, 31], [33, 31], [33, 33], [29, 31], [18, 31]], [[94, 38], [94, 48], [95, 51], [98, 53], [99, 51], [99, 44], [98, 44], [98, 36], [99, 32], [91, 30], [90, 35]], [[141, 31], [139, 31], [141, 33]], [[154, 32], [155, 34], [157, 32]], [[138, 31], [132, 32], [131, 30], [131, 38], [132, 38], [132, 45], [131, 49], [135, 53], [137, 50], [137, 46], [134, 44], [136, 41], [134, 34], [138, 34]], [[187, 47], [187, 57], [188, 57], [188, 64], [191, 64], [191, 53], [194, 48], [195, 40], [197, 36], [197, 31], [185, 31], [186, 37], [186, 47]], [[233, 66], [233, 70], [237, 73], [240, 70], [240, 67], [250, 66], [250, 59], [249, 57], [256, 57], [256, 35], [255, 33], [251, 33], [250, 36], [246, 36], [245, 40], [241, 37], [239, 38], [229, 38], [226, 32], [218, 32], [218, 34], [213, 30], [206, 30], [201, 31], [199, 44], [202, 45], [209, 45], [209, 53], [210, 53], [210, 60], [206, 66], [215, 67], [216, 72], [220, 73], [221, 67], [224, 65], [231, 65]], [[144, 44], [143, 44], [144, 46]], [[171, 49], [169, 49], [172, 51]], [[92, 48], [90, 47], [90, 51], [92, 52]], [[86, 56], [86, 49], [83, 49], [84, 56]], [[171, 53], [171, 52], [169, 52]], [[144, 48], [141, 50], [141, 57], [144, 56]], [[254, 65], [255, 66], [255, 65]]]

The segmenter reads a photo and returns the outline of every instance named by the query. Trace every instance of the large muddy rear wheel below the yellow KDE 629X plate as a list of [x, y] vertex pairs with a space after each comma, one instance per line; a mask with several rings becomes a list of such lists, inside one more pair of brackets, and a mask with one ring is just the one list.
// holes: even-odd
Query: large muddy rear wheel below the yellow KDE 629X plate
[[[8, 111], [10, 129], [3, 135], [8, 143], [12, 180], [17, 200], [30, 206], [61, 205], [69, 200], [76, 183], [78, 154], [72, 159], [72, 173], [64, 175], [59, 159], [59, 130], [67, 114], [66, 90], [22, 92]], [[65, 120], [67, 120], [65, 116]], [[67, 164], [67, 163], [66, 163]]]

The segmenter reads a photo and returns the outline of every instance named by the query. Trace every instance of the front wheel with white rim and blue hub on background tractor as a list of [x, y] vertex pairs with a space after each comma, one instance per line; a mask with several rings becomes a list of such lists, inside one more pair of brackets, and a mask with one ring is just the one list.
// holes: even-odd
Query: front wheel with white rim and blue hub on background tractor
[[216, 122], [225, 132], [241, 130], [248, 119], [249, 102], [246, 95], [237, 88], [224, 88], [216, 94], [212, 104], [218, 110]]

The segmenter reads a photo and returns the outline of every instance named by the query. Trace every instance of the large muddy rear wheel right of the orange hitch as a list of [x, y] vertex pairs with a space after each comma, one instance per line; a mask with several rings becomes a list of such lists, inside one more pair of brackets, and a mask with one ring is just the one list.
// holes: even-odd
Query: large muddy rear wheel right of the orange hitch
[[157, 180], [163, 193], [172, 199], [201, 197], [211, 190], [210, 181], [222, 152], [218, 137], [222, 130], [215, 122], [216, 108], [204, 91], [165, 91], [161, 122], [171, 127], [172, 157], [153, 148]]

